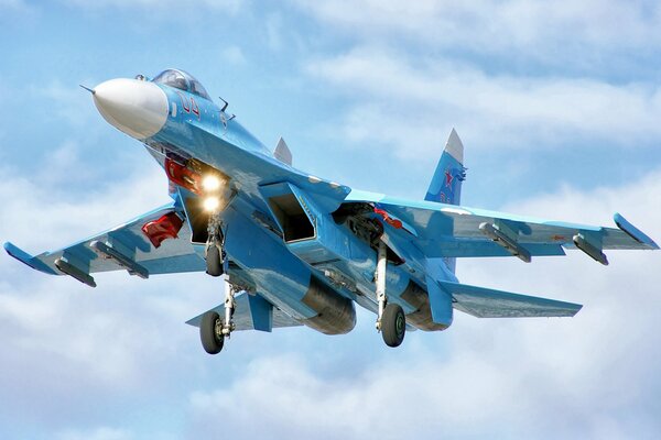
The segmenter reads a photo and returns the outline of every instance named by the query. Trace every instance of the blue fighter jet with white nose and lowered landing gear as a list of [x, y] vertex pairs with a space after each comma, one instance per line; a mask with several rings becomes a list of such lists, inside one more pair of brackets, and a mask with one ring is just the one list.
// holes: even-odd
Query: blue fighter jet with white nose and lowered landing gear
[[456, 258], [530, 263], [576, 249], [606, 265], [605, 250], [658, 249], [619, 213], [617, 228], [605, 228], [460, 206], [466, 168], [454, 130], [424, 199], [407, 200], [294, 168], [283, 140], [267, 147], [183, 70], [88, 90], [104, 119], [163, 168], [172, 202], [58, 251], [4, 249], [40, 272], [91, 287], [93, 274], [107, 271], [223, 276], [223, 304], [188, 321], [210, 354], [238, 330], [347, 333], [356, 304], [376, 315], [389, 346], [400, 345], [407, 330], [447, 329], [455, 310], [572, 317], [581, 305], [459, 283]]

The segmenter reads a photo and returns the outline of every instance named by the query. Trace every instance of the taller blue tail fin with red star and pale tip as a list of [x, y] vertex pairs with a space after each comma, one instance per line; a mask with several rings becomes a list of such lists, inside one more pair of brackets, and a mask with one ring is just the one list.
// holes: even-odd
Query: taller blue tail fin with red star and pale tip
[[465, 179], [464, 144], [462, 144], [457, 132], [452, 129], [424, 199], [459, 205], [462, 200], [462, 182]]

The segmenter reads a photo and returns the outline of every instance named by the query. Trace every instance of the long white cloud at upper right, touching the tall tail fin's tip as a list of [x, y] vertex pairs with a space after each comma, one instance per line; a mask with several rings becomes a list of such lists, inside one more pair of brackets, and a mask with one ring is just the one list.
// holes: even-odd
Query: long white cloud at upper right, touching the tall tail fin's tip
[[661, 89], [597, 79], [488, 76], [447, 59], [360, 47], [307, 72], [351, 97], [339, 134], [402, 158], [437, 151], [452, 127], [476, 148], [549, 147], [568, 140], [626, 146], [661, 139]]

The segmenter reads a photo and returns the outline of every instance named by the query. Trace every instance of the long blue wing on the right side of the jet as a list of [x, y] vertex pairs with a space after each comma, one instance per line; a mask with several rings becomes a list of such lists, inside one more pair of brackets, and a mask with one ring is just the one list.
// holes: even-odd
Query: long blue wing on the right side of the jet
[[607, 264], [603, 250], [659, 249], [616, 213], [618, 228], [535, 219], [425, 200], [351, 191], [345, 204], [369, 204], [384, 216], [387, 232], [413, 242], [427, 257], [564, 255], [578, 248]]

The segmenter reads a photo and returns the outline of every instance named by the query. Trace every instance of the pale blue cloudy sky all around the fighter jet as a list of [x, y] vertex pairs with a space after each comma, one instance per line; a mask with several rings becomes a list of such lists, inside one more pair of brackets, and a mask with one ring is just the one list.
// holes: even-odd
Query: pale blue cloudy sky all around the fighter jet
[[[465, 4], [464, 4], [465, 3]], [[78, 87], [196, 76], [264, 144], [355, 188], [424, 195], [447, 135], [467, 206], [661, 241], [661, 6], [596, 0], [0, 0], [0, 241], [54, 250], [167, 202], [160, 167]], [[0, 437], [658, 438], [661, 253], [458, 262], [467, 284], [579, 302], [571, 319], [457, 312], [383, 345], [184, 322], [204, 274], [96, 276], [0, 256]]]

